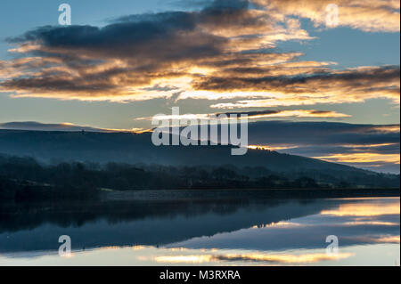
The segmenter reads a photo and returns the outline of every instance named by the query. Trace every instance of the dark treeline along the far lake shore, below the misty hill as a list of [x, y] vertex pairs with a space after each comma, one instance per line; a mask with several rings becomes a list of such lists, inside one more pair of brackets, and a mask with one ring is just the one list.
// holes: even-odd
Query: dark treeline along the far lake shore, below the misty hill
[[[396, 187], [397, 181], [372, 175], [383, 187]], [[330, 174], [299, 172], [274, 173], [264, 167], [235, 166], [146, 166], [109, 163], [61, 163], [42, 165], [33, 158], [0, 156], [0, 198], [96, 199], [99, 189], [202, 190], [202, 189], [286, 189], [350, 188], [364, 181], [343, 181]], [[393, 177], [394, 179], [394, 177]], [[382, 180], [382, 181], [381, 181]]]

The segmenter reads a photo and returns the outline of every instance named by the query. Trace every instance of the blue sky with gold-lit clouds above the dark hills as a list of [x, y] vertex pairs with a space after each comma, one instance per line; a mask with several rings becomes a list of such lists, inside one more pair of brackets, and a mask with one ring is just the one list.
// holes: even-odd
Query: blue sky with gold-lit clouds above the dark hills
[[[70, 4], [70, 26], [59, 23], [62, 3]], [[253, 122], [310, 129], [314, 122], [377, 125], [389, 140], [345, 139], [341, 149], [326, 142], [326, 154], [311, 153], [311, 142], [296, 153], [399, 173], [399, 5], [3, 0], [0, 127], [147, 129], [152, 116], [175, 106], [200, 118], [258, 112]], [[268, 146], [280, 143], [289, 142]]]

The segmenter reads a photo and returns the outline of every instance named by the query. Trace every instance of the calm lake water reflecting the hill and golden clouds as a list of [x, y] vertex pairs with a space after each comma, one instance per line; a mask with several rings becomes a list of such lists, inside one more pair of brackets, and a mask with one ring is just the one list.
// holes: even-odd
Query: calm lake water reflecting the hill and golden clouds
[[[399, 198], [3, 205], [0, 265], [393, 266], [399, 214]], [[59, 256], [61, 235], [70, 256]]]

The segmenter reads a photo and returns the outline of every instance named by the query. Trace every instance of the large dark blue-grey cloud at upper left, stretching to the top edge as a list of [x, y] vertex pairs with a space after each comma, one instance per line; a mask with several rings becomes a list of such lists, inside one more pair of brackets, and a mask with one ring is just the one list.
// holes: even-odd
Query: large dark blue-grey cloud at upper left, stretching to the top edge
[[[247, 10], [248, 1], [215, 1], [201, 12], [159, 12], [120, 17], [109, 25], [53, 27], [31, 30], [8, 42], [40, 42], [47, 48], [81, 53], [97, 53], [105, 58], [144, 58], [180, 60], [221, 53], [224, 37], [202, 31], [200, 25], [214, 28], [254, 25]], [[253, 20], [253, 22], [251, 21]], [[239, 22], [240, 21], [240, 22]]]

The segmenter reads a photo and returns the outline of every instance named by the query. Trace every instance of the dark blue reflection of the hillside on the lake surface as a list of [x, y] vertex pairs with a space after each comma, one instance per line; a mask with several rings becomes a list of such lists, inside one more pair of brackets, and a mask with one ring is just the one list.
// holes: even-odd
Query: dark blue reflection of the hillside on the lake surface
[[[279, 199], [215, 199], [2, 207], [0, 251], [57, 249], [70, 235], [72, 247], [160, 246], [255, 225], [277, 223], [336, 202]], [[12, 211], [11, 211], [12, 209]]]

